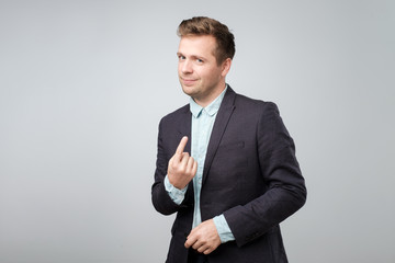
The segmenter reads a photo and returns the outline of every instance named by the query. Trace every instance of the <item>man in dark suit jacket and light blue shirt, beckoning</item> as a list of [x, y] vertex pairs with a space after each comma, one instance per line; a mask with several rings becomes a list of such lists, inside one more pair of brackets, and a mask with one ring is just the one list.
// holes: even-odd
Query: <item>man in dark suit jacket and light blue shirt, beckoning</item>
[[306, 188], [278, 107], [226, 84], [235, 54], [226, 25], [193, 18], [178, 35], [191, 100], [160, 121], [151, 188], [159, 213], [177, 213], [167, 262], [287, 262], [279, 224]]

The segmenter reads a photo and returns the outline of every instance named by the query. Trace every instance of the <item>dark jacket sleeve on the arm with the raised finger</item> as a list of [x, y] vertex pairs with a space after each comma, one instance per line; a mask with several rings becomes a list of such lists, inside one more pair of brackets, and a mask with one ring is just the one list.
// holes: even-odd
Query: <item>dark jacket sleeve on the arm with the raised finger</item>
[[169, 193], [165, 187], [165, 178], [168, 170], [168, 162], [171, 158], [167, 152], [169, 149], [166, 149], [165, 145], [165, 132], [163, 132], [163, 119], [159, 123], [159, 134], [158, 134], [158, 153], [156, 161], [156, 170], [155, 170], [155, 181], [151, 187], [151, 199], [154, 207], [157, 211], [163, 215], [171, 215], [178, 211], [180, 208], [185, 207], [183, 203], [180, 205], [176, 204]]

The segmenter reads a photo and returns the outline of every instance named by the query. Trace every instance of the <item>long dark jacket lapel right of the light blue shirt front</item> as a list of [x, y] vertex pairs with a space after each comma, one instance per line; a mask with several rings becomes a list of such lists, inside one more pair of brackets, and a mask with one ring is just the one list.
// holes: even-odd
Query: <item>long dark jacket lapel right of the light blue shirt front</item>
[[230, 89], [230, 87], [228, 87], [228, 90], [225, 93], [225, 96], [224, 96], [221, 107], [218, 110], [217, 116], [215, 118], [213, 130], [212, 130], [212, 134], [210, 137], [206, 158], [204, 161], [202, 184], [204, 184], [205, 179], [207, 178], [210, 167], [211, 167], [214, 156], [218, 149], [221, 139], [224, 135], [224, 132], [229, 122], [232, 113], [235, 110], [235, 105], [234, 105], [235, 98], [236, 98], [236, 93]]

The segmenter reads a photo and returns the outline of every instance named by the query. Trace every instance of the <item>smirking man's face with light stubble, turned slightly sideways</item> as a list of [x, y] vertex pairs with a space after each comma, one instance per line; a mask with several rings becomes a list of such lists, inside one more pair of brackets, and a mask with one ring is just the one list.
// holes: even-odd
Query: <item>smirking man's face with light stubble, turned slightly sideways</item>
[[[183, 36], [179, 50], [178, 73], [182, 90], [202, 106], [208, 105], [225, 88], [226, 64], [217, 65], [213, 36]], [[230, 67], [230, 65], [229, 65]]]

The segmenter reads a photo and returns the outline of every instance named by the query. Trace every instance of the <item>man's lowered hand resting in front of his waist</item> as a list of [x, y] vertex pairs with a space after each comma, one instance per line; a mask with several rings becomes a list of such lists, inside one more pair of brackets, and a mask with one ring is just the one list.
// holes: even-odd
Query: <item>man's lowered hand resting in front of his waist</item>
[[210, 254], [221, 244], [221, 239], [213, 219], [206, 220], [192, 229], [187, 238], [185, 248]]

